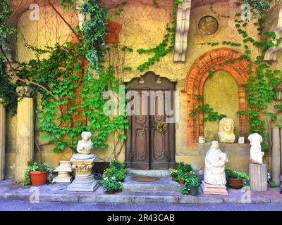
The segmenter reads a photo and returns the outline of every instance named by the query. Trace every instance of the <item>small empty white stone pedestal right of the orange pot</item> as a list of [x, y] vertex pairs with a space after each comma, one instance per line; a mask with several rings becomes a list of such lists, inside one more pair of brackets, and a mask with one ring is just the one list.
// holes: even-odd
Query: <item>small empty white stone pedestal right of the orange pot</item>
[[71, 183], [71, 161], [60, 161], [59, 167], [56, 167], [54, 172], [58, 172], [58, 176], [56, 176], [53, 181], [56, 183]]

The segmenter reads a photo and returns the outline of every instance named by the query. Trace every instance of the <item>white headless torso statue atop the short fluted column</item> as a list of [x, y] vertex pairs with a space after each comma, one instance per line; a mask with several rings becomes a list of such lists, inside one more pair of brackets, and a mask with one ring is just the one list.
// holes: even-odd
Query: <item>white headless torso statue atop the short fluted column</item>
[[262, 165], [263, 164], [262, 157], [264, 156], [264, 152], [262, 152], [262, 147], [260, 146], [260, 143], [262, 143], [262, 136], [255, 133], [248, 136], [247, 139], [250, 141], [251, 144], [250, 160], [253, 163]]

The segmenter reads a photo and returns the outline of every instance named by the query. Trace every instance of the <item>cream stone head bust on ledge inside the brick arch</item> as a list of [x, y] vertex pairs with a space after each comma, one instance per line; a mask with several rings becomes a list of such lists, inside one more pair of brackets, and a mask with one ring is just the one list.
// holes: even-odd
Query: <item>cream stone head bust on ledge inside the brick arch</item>
[[219, 121], [219, 136], [220, 143], [234, 143], [234, 122], [231, 118], [223, 118]]

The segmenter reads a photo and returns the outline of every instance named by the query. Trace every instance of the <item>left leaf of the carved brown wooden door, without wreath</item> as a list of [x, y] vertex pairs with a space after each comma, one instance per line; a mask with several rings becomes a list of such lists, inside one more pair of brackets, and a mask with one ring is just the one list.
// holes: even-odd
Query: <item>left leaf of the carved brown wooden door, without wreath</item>
[[[134, 169], [149, 168], [149, 96], [142, 98], [142, 91], [138, 91], [140, 96], [139, 113], [131, 117], [131, 167]], [[134, 107], [134, 106], [133, 106]], [[133, 108], [134, 110], [134, 108]], [[142, 111], [143, 110], [143, 111]]]

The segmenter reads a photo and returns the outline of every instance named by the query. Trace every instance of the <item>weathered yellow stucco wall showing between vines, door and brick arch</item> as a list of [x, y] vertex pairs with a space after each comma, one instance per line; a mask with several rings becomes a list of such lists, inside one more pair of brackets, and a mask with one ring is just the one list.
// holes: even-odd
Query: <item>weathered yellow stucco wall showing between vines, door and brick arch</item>
[[[148, 0], [149, 1], [149, 0]], [[172, 2], [172, 1], [171, 1]], [[145, 72], [140, 72], [136, 70], [137, 66], [145, 62], [149, 58], [150, 54], [139, 55], [136, 49], [144, 48], [148, 49], [159, 44], [164, 34], [166, 34], [166, 24], [171, 22], [171, 11], [172, 4], [168, 2], [166, 6], [161, 6], [155, 8], [154, 6], [147, 6], [142, 4], [126, 4], [124, 6], [124, 11], [121, 16], [113, 18], [118, 23], [121, 23], [123, 29], [120, 35], [120, 46], [128, 46], [134, 49], [133, 53], [125, 53], [124, 58], [121, 54], [120, 56], [115, 56], [115, 51], [112, 51], [111, 58], [121, 58], [121, 60], [116, 60], [116, 62], [125, 62], [123, 67], [133, 68], [130, 72], [124, 72], [121, 74], [124, 81], [129, 81], [133, 77], [140, 76]], [[188, 112], [185, 108], [186, 105], [186, 94], [181, 92], [184, 89], [185, 79], [190, 70], [192, 63], [200, 58], [204, 53], [209, 50], [223, 47], [219, 46], [202, 46], [200, 43], [207, 41], [233, 41], [240, 42], [241, 37], [238, 32], [234, 29], [234, 15], [236, 13], [236, 6], [231, 4], [214, 4], [214, 9], [217, 13], [223, 15], [230, 15], [231, 18], [222, 18], [218, 15], [212, 13], [209, 9], [209, 5], [200, 6], [198, 8], [193, 8], [190, 13], [190, 30], [188, 34], [188, 51], [186, 54], [185, 63], [173, 63], [173, 53], [168, 53], [167, 56], [161, 58], [159, 63], [155, 63], [149, 70], [154, 71], [157, 75], [161, 77], [168, 77], [172, 81], [178, 82], [176, 89], [180, 91], [180, 120], [176, 124], [176, 161], [183, 161], [191, 163], [196, 169], [201, 170], [204, 167], [204, 155], [207, 151], [209, 144], [204, 147], [198, 144], [188, 144], [186, 141], [187, 134], [187, 115]], [[238, 10], [238, 9], [237, 9]], [[69, 39], [70, 31], [63, 25], [63, 22], [57, 18], [54, 12], [50, 8], [42, 9], [43, 15], [41, 19], [44, 21], [37, 23], [28, 20], [28, 11], [23, 14], [18, 23], [18, 32], [24, 34], [25, 39], [28, 44], [35, 46], [44, 46], [45, 44], [54, 44], [59, 41], [63, 44], [67, 39]], [[70, 13], [70, 12], [68, 12]], [[73, 13], [65, 13], [68, 21], [71, 24], [77, 23], [77, 18]], [[219, 22], [219, 30], [216, 34], [211, 36], [205, 36], [199, 32], [197, 29], [197, 24], [200, 18], [205, 15], [214, 16]], [[53, 23], [54, 22], [54, 23]], [[257, 37], [256, 29], [250, 25], [247, 27], [248, 32], [252, 37]], [[237, 51], [243, 52], [243, 47], [231, 47]], [[257, 56], [257, 49], [252, 48], [252, 58]], [[281, 55], [280, 55], [281, 56]], [[23, 40], [19, 38], [18, 40], [18, 59], [19, 60], [29, 60], [33, 55], [23, 47]], [[282, 57], [282, 56], [281, 56]], [[281, 58], [280, 57], [280, 58]], [[280, 65], [280, 64], [279, 64]], [[231, 80], [221, 80], [226, 86], [229, 84], [233, 86], [232, 89], [235, 90], [234, 82]], [[219, 96], [220, 100], [224, 100], [224, 96]], [[217, 107], [217, 106], [216, 106]], [[221, 108], [223, 105], [221, 105]], [[7, 163], [6, 163], [6, 174], [8, 177], [13, 176], [13, 167], [15, 161], [16, 152], [16, 120], [17, 117], [7, 118]], [[215, 129], [215, 127], [214, 127]], [[235, 131], [238, 132], [238, 127], [235, 127]], [[40, 138], [41, 134], [36, 132], [36, 139], [38, 143], [44, 143]], [[104, 160], [107, 160], [111, 155], [114, 143], [113, 139], [109, 139], [109, 148], [104, 150], [95, 149], [94, 153]], [[229, 165], [234, 166], [236, 169], [244, 168], [247, 169], [248, 164], [248, 146], [223, 146], [224, 151], [228, 152]], [[36, 149], [36, 148], [35, 148]], [[244, 149], [242, 151], [242, 149]], [[63, 153], [53, 153], [52, 146], [42, 146], [42, 151], [44, 153], [44, 161], [51, 165], [56, 165], [59, 160], [66, 160], [71, 157], [71, 152], [66, 150]], [[38, 158], [37, 150], [35, 150], [35, 157]], [[119, 160], [124, 159], [124, 149], [121, 150], [119, 155]]]

